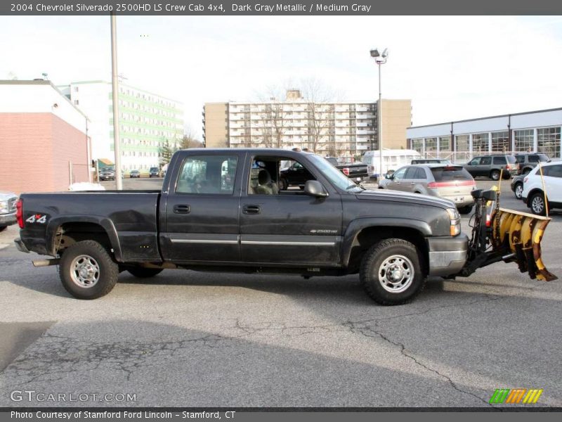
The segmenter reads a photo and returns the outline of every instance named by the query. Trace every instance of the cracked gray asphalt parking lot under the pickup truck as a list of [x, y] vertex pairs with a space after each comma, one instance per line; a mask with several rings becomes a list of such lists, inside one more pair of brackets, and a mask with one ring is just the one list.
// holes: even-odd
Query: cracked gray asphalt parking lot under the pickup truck
[[[508, 181], [502, 191], [503, 207], [527, 210]], [[515, 264], [431, 279], [398, 307], [372, 302], [358, 276], [180, 270], [124, 273], [109, 295], [81, 301], [56, 267], [32, 267], [38, 255], [15, 250], [16, 236], [0, 233], [2, 407], [489, 407], [496, 388], [542, 388], [535, 406], [562, 406], [562, 281], [532, 281]], [[562, 278], [561, 244], [555, 212], [542, 250]], [[114, 396], [61, 403], [20, 390]]]

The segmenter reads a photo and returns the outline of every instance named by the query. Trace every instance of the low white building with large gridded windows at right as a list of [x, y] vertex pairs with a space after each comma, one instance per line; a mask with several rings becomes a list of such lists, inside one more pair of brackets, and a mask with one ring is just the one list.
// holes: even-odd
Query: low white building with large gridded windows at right
[[544, 153], [561, 156], [562, 108], [409, 127], [409, 148], [426, 158], [466, 162], [474, 155]]

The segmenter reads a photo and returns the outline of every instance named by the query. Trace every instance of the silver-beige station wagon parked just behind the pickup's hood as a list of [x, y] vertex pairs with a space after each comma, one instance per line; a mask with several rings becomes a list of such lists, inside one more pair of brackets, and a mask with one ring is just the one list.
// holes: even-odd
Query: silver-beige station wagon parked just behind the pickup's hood
[[461, 214], [469, 214], [476, 182], [461, 165], [407, 165], [387, 175], [379, 188], [440, 196], [455, 203]]

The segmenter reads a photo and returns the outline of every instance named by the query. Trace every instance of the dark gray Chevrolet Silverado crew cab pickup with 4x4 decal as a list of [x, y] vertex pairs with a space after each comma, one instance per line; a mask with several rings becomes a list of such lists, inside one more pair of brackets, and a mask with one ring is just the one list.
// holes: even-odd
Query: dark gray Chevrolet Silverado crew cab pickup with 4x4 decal
[[[310, 174], [279, 189], [280, 162]], [[464, 267], [468, 238], [441, 198], [369, 191], [325, 158], [277, 149], [176, 152], [162, 191], [23, 193], [22, 252], [51, 255], [76, 298], [100, 298], [119, 272], [163, 269], [342, 276], [359, 274], [382, 305], [412, 300], [427, 276]]]

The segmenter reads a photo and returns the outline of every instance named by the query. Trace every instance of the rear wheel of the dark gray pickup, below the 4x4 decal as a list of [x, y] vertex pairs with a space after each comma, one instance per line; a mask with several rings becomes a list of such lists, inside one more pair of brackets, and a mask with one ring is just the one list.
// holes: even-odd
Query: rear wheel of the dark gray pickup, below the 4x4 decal
[[[91, 274], [88, 277], [96, 279], [96, 281], [90, 281], [91, 286], [87, 286], [88, 281], [84, 274], [79, 273], [80, 266]], [[64, 288], [74, 298], [97, 299], [107, 295], [115, 287], [119, 277], [119, 266], [100, 243], [81, 241], [74, 243], [63, 252], [58, 274]]]

